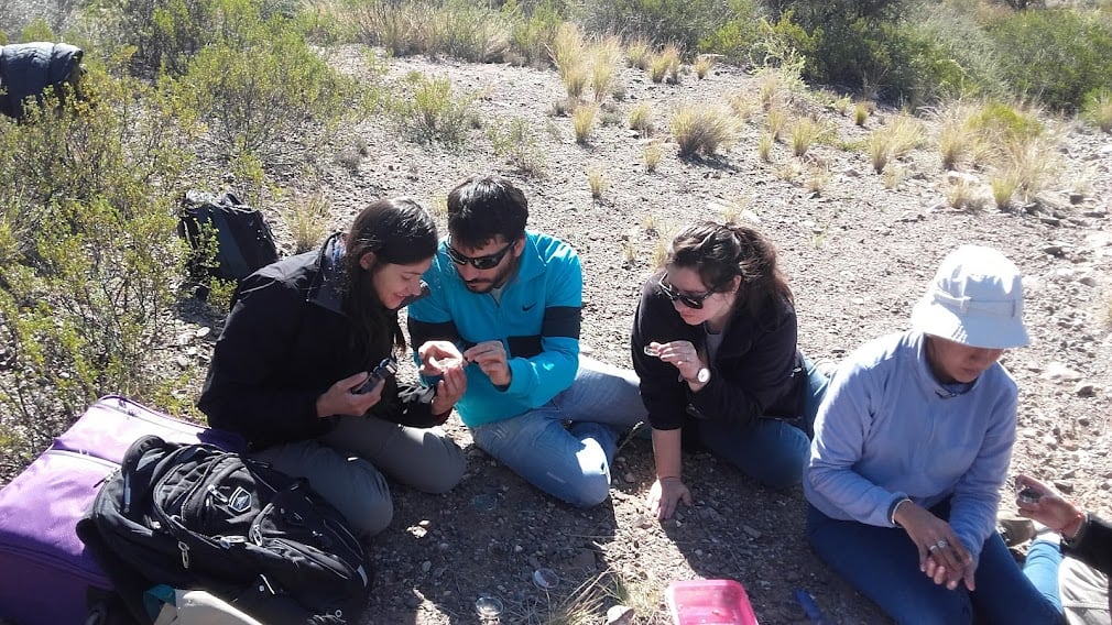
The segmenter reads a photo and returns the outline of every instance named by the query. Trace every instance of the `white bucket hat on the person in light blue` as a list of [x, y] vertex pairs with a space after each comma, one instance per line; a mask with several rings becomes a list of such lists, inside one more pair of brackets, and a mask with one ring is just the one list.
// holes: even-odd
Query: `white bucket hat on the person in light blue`
[[950, 252], [911, 312], [913, 329], [971, 347], [1030, 343], [1020, 270], [1003, 254], [965, 245]]

